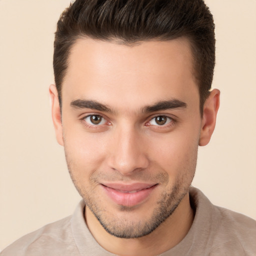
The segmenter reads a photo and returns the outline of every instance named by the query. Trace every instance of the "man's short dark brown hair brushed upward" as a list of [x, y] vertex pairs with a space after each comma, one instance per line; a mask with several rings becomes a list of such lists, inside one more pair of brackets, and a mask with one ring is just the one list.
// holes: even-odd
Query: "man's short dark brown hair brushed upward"
[[145, 40], [186, 37], [191, 44], [200, 111], [213, 78], [215, 34], [203, 0], [76, 0], [57, 22], [53, 69], [61, 105], [61, 83], [75, 40], [90, 37], [133, 44]]

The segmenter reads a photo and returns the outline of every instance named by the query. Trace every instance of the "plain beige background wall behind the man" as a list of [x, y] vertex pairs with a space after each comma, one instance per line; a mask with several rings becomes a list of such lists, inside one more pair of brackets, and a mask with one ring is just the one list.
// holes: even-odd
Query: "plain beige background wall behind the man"
[[[73, 212], [79, 200], [55, 142], [47, 88], [53, 32], [69, 0], [0, 0], [0, 249]], [[256, 1], [206, 0], [216, 23], [221, 107], [193, 184], [256, 218]]]

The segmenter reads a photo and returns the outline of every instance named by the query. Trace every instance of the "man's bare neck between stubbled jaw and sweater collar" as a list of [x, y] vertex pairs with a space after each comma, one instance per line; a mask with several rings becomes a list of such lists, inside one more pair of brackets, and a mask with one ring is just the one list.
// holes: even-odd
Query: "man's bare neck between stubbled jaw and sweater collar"
[[98, 242], [107, 251], [125, 256], [157, 255], [177, 245], [187, 234], [194, 213], [188, 193], [175, 211], [150, 234], [139, 238], [118, 238], [107, 233], [93, 213], [85, 207], [87, 226]]

